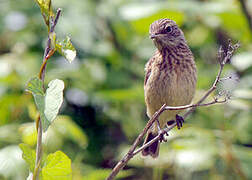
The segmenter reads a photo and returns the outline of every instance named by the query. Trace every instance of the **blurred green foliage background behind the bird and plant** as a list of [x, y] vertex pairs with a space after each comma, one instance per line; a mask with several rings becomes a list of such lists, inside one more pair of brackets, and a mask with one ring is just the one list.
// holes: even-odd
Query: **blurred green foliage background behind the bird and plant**
[[[171, 18], [183, 29], [198, 67], [195, 99], [211, 86], [217, 51], [228, 39], [241, 48], [224, 75], [240, 78], [232, 100], [201, 107], [173, 130], [158, 159], [137, 155], [122, 179], [252, 179], [252, 29], [239, 0], [53, 0], [63, 12], [57, 36], [70, 35], [77, 58], [59, 54], [48, 63], [46, 83], [65, 82], [60, 115], [43, 136], [44, 153], [72, 159], [74, 180], [104, 179], [129, 149], [148, 118], [144, 65], [155, 47], [149, 25]], [[252, 14], [252, 0], [247, 0]], [[35, 149], [37, 112], [25, 92], [36, 76], [47, 39], [33, 0], [0, 0], [0, 179], [23, 180], [28, 165], [19, 143]], [[221, 88], [223, 91], [223, 88]], [[211, 99], [210, 99], [211, 100]]]

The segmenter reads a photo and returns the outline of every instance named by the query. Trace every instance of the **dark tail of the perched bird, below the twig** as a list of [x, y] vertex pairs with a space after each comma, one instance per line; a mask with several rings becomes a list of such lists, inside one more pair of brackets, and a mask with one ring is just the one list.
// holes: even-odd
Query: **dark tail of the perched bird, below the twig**
[[[146, 144], [149, 141], [151, 141], [157, 135], [158, 135], [157, 132], [153, 132], [152, 129], [150, 129], [147, 132], [146, 138], [144, 140], [144, 144]], [[143, 151], [142, 151], [142, 155], [143, 156], [150, 155], [153, 158], [158, 157], [158, 154], [159, 154], [159, 140], [155, 141], [154, 143], [152, 143], [150, 146], [148, 146], [147, 148], [143, 149]]]

